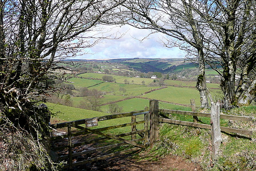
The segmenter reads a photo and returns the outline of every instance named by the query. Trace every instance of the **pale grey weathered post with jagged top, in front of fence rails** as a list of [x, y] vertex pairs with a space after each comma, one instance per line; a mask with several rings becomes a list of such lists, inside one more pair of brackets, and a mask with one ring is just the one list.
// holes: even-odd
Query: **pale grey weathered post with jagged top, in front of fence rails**
[[216, 104], [212, 102], [211, 105], [211, 133], [212, 133], [212, 159], [215, 163], [218, 157], [218, 151], [221, 144], [221, 132], [220, 132], [220, 103]]

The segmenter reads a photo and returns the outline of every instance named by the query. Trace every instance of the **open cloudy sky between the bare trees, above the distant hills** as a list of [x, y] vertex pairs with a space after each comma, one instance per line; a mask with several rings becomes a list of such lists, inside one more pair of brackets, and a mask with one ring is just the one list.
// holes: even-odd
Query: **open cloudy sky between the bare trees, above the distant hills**
[[[164, 36], [160, 33], [148, 36], [150, 30], [137, 29], [128, 25], [115, 26], [114, 28], [106, 27], [108, 27], [108, 34], [114, 34], [113, 36], [124, 34], [124, 36], [116, 40], [101, 40], [93, 47], [87, 48], [87, 54], [77, 56], [76, 58], [96, 60], [117, 58], [184, 58], [184, 52], [178, 47], [167, 48], [160, 43], [162, 36]], [[144, 39], [145, 37], [147, 38]]]

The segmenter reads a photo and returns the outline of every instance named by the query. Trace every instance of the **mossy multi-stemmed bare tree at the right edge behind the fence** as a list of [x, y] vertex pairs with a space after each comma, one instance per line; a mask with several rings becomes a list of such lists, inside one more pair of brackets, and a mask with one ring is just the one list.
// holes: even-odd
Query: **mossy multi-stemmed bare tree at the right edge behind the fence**
[[195, 9], [207, 30], [203, 37], [206, 62], [220, 73], [227, 107], [248, 105], [255, 97], [255, 10], [251, 0], [204, 0]]

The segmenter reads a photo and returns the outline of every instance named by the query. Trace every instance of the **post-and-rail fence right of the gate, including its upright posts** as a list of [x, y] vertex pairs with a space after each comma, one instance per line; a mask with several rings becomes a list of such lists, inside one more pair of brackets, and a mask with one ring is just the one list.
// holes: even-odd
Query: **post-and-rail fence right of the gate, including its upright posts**
[[[194, 100], [191, 100], [191, 107], [192, 111], [178, 111], [178, 110], [168, 110], [168, 109], [158, 109], [158, 100], [151, 100], [150, 101], [150, 113], [152, 113], [152, 116], [150, 115], [150, 126], [154, 129], [150, 129], [150, 146], [154, 144], [154, 141], [158, 138], [158, 126], [159, 122], [165, 122], [165, 123], [171, 123], [176, 125], [185, 125], [190, 127], [198, 127], [198, 128], [204, 128], [204, 129], [211, 129], [212, 134], [212, 159], [215, 161], [218, 150], [221, 143], [221, 134], [220, 131], [223, 132], [230, 132], [230, 133], [239, 133], [242, 135], [252, 135], [251, 130], [246, 129], [240, 129], [240, 128], [232, 128], [232, 127], [221, 127], [220, 126], [220, 118], [221, 119], [228, 119], [228, 120], [236, 120], [236, 121], [252, 121], [252, 117], [247, 116], [237, 116], [237, 115], [223, 115], [220, 114], [220, 109], [215, 108], [217, 105], [214, 104], [214, 107], [211, 109], [214, 113], [200, 113], [196, 112], [196, 109], [194, 107]], [[180, 121], [176, 119], [171, 119], [164, 115], [163, 113], [168, 114], [180, 114], [180, 115], [190, 115], [193, 116], [194, 122], [188, 122], [188, 121]], [[214, 118], [214, 117], [215, 118]], [[210, 123], [209, 124], [203, 124], [198, 123], [198, 117], [210, 117]], [[216, 120], [214, 120], [216, 119]], [[153, 125], [152, 125], [153, 124]]]

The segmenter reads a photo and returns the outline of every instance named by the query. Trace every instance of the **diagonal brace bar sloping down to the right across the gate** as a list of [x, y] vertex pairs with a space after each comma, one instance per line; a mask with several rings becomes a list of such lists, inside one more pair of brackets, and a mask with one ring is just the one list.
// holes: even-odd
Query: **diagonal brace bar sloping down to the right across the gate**
[[95, 133], [95, 134], [98, 134], [98, 135], [101, 135], [101, 136], [104, 136], [104, 137], [108, 137], [108, 138], [111, 138], [111, 139], [116, 139], [118, 141], [123, 141], [125, 143], [135, 145], [135, 146], [140, 147], [140, 148], [146, 148], [145, 145], [137, 144], [136, 142], [126, 140], [126, 139], [122, 139], [122, 138], [116, 137], [114, 135], [109, 135], [109, 134], [106, 134], [106, 133], [102, 133], [100, 131], [96, 131], [94, 129], [88, 129], [88, 128], [85, 128], [85, 127], [81, 127], [79, 125], [73, 125], [73, 126], [78, 128], [78, 129], [82, 129], [82, 130], [85, 130], [85, 131], [88, 131], [88, 132], [91, 132], [91, 133]]

